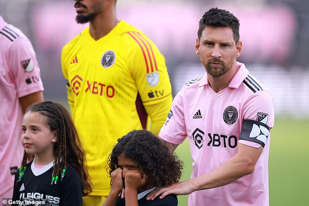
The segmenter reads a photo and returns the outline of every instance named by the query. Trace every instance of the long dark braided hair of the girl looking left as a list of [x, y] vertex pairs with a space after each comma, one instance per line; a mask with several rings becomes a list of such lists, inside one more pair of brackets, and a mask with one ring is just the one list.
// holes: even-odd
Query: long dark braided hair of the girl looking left
[[[84, 187], [83, 195], [89, 194], [92, 191], [92, 186], [85, 166], [85, 151], [69, 112], [62, 105], [50, 101], [31, 105], [26, 112], [39, 112], [46, 116], [46, 124], [49, 126], [50, 131], [56, 131], [58, 141], [54, 147], [53, 177], [60, 177], [63, 169], [66, 169], [66, 165], [69, 163], [81, 178]], [[21, 168], [26, 167], [26, 162], [27, 153], [24, 151]]]

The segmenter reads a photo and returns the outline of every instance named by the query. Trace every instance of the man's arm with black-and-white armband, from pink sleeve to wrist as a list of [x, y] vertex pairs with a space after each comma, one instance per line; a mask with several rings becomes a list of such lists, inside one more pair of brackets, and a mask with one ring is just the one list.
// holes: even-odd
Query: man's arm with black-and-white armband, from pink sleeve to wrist
[[270, 93], [258, 91], [251, 94], [242, 108], [242, 119], [237, 153], [218, 169], [193, 179], [193, 191], [221, 187], [254, 171], [256, 162], [269, 142], [270, 128], [274, 124]]

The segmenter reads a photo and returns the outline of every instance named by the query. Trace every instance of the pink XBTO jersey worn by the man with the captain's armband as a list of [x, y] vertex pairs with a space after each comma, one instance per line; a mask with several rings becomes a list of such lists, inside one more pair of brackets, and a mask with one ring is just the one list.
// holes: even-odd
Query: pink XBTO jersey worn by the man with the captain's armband
[[269, 206], [268, 157], [274, 123], [268, 90], [236, 62], [228, 88], [215, 93], [207, 74], [186, 83], [175, 96], [159, 136], [181, 144], [188, 136], [193, 159], [191, 178], [209, 173], [237, 153], [237, 145], [264, 147], [254, 172], [235, 182], [195, 191], [189, 206]]

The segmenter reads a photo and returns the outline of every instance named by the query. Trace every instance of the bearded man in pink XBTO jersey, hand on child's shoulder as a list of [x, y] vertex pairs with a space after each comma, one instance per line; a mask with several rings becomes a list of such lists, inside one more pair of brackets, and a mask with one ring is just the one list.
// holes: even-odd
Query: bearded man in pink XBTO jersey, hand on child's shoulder
[[189, 195], [189, 206], [269, 206], [272, 98], [236, 58], [239, 20], [212, 8], [199, 22], [195, 51], [206, 68], [175, 96], [159, 137], [171, 151], [188, 136], [191, 179], [157, 188], [147, 199]]

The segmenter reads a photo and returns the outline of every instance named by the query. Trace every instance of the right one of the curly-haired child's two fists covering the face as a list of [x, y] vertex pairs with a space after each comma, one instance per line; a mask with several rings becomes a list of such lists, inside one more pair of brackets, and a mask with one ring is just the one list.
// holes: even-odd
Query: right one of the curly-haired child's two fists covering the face
[[124, 178], [124, 184], [126, 188], [132, 188], [132, 189], [138, 189], [139, 187], [142, 187], [146, 184], [147, 177], [145, 174], [143, 174], [138, 169], [131, 169], [127, 171], [125, 178]]

